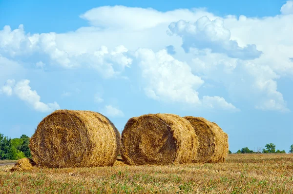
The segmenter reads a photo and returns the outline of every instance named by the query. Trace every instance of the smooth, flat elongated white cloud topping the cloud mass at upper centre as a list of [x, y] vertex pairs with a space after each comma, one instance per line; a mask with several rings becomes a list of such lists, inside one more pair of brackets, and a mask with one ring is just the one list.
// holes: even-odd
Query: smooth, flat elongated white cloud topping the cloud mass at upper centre
[[202, 9], [177, 9], [160, 12], [152, 8], [126, 7], [122, 5], [102, 6], [88, 10], [80, 17], [89, 21], [92, 26], [102, 29], [144, 30], [154, 28], [162, 23], [174, 20], [198, 18], [203, 14], [213, 16]]

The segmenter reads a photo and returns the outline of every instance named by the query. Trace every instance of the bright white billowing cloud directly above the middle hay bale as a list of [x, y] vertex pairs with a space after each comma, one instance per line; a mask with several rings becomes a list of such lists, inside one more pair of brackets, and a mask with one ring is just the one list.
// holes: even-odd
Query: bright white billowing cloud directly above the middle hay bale
[[163, 101], [201, 103], [196, 89], [204, 81], [191, 73], [188, 64], [168, 55], [166, 50], [154, 53], [150, 49], [138, 49], [135, 55], [148, 97]]

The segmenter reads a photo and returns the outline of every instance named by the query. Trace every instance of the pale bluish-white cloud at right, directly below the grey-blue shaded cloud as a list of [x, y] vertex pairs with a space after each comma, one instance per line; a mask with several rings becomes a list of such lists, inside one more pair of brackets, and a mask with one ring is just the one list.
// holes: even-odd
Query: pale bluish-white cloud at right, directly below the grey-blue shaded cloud
[[202, 78], [222, 83], [234, 101], [249, 101], [261, 110], [289, 111], [283, 95], [277, 91], [275, 79], [280, 76], [268, 65], [206, 52], [192, 59], [191, 68]]

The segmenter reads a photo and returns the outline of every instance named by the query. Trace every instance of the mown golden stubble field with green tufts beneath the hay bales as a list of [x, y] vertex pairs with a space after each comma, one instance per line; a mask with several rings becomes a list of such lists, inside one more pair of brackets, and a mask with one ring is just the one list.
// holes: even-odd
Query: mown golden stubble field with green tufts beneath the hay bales
[[229, 155], [225, 163], [37, 169], [0, 166], [0, 193], [293, 193], [293, 155]]

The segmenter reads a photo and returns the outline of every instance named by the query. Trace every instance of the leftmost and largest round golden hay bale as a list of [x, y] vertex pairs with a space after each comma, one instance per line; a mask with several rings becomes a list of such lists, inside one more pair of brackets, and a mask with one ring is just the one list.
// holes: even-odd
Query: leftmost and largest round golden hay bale
[[120, 150], [120, 134], [99, 113], [58, 110], [40, 122], [29, 148], [38, 166], [112, 166]]

